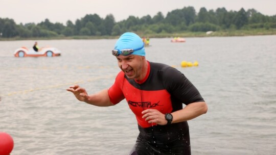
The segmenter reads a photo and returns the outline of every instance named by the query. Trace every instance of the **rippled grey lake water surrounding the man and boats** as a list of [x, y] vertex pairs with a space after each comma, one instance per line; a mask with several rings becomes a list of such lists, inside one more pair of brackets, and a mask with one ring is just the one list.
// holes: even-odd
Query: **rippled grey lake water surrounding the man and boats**
[[[208, 104], [188, 121], [192, 154], [276, 152], [276, 36], [152, 38], [146, 58], [183, 72]], [[35, 40], [0, 41], [0, 132], [13, 154], [128, 154], [138, 129], [125, 100], [112, 107], [78, 101], [65, 89], [109, 88], [120, 71], [111, 55], [116, 39], [40, 40], [61, 57], [15, 58]], [[181, 61], [198, 61], [182, 68]]]

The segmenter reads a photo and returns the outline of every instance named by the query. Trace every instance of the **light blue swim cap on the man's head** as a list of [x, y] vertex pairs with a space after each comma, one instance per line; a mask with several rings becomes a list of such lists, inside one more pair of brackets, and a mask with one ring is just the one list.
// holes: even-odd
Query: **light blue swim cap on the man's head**
[[[122, 34], [121, 37], [117, 40], [114, 47], [114, 49], [119, 49], [119, 50], [129, 49], [129, 48], [134, 49], [134, 52], [132, 53], [132, 55], [146, 56], [144, 42], [138, 35], [132, 32], [126, 32]], [[139, 48], [142, 48], [142, 49], [135, 50]]]

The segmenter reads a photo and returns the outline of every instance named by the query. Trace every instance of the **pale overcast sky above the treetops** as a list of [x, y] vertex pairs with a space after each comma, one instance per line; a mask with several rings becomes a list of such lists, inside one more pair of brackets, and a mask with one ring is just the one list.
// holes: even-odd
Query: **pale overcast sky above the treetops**
[[224, 7], [227, 11], [244, 8], [255, 9], [264, 15], [276, 15], [276, 0], [0, 0], [0, 18], [10, 18], [19, 24], [38, 23], [48, 18], [51, 22], [66, 23], [81, 19], [86, 14], [98, 14], [101, 18], [112, 14], [116, 22], [128, 16], [153, 17], [157, 12], [164, 16], [168, 12], [184, 7], [194, 7], [196, 12], [205, 7], [216, 10]]

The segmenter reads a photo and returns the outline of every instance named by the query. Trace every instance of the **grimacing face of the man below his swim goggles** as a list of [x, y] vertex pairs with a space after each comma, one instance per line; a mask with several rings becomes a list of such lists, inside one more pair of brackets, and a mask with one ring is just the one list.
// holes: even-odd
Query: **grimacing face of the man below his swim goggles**
[[143, 56], [117, 56], [118, 66], [129, 79], [142, 80]]

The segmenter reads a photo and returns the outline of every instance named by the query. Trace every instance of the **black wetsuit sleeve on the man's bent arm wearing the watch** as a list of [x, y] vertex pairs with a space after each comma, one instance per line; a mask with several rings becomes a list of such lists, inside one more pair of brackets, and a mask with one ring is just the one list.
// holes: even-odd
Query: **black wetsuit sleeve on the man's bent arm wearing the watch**
[[178, 98], [183, 104], [204, 101], [197, 88], [177, 69], [168, 68], [164, 73], [164, 81], [164, 85], [171, 95]]

